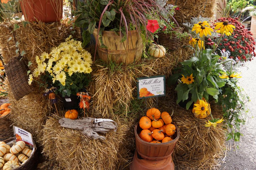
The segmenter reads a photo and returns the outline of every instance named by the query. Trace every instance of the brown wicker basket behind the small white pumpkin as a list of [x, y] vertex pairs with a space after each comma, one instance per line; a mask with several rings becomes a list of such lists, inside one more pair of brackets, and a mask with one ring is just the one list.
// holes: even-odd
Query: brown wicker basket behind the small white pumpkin
[[[183, 28], [175, 27], [176, 31], [182, 33]], [[168, 50], [177, 50], [180, 47], [181, 39], [175, 34], [158, 33], [158, 44], [164, 46]]]

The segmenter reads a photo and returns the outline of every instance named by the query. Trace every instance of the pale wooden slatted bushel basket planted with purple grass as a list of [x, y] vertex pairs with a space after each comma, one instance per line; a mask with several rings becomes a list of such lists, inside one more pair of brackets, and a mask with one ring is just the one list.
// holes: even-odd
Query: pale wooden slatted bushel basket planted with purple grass
[[117, 64], [124, 63], [128, 65], [141, 59], [143, 43], [138, 31], [128, 31], [127, 39], [124, 42], [121, 42], [121, 37], [114, 31], [103, 31], [102, 40], [107, 48], [101, 47], [98, 29], [94, 30], [93, 35], [95, 39], [98, 38], [98, 55], [104, 62], [114, 61]]

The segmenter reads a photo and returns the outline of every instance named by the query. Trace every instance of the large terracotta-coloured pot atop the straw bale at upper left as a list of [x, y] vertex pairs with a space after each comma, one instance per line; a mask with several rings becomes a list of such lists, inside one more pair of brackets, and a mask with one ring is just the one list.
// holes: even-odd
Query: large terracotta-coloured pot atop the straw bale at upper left
[[21, 0], [26, 21], [56, 22], [62, 19], [62, 0]]

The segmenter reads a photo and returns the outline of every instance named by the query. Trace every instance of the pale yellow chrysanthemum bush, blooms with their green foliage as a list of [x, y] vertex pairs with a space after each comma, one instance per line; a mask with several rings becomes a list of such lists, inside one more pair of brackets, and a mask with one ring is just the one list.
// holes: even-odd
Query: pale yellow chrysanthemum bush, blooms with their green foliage
[[90, 81], [91, 54], [71, 35], [49, 54], [43, 52], [40, 57], [36, 56], [36, 62], [37, 68], [29, 75], [28, 83], [31, 85], [40, 76], [41, 82], [45, 82], [43, 85], [54, 87], [51, 89], [64, 97], [64, 102], [77, 99], [77, 93]]

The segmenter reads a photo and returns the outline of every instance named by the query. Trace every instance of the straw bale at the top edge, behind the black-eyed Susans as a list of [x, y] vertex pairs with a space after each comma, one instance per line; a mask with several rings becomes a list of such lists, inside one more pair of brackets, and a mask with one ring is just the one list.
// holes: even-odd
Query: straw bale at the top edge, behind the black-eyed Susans
[[215, 0], [169, 0], [168, 3], [179, 7], [179, 11], [174, 16], [179, 24], [190, 21], [192, 17], [201, 15], [202, 17], [211, 18], [214, 14]]

